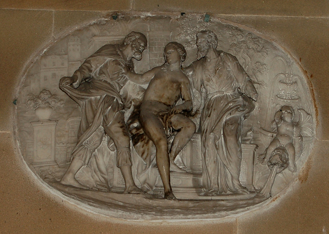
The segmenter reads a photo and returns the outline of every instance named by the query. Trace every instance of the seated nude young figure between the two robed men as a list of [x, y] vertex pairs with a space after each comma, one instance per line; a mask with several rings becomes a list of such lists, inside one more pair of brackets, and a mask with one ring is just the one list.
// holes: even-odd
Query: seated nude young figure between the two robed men
[[[168, 43], [165, 47], [166, 63], [142, 75], [145, 81], [152, 80], [144, 93], [139, 120], [156, 147], [156, 164], [165, 188], [165, 199], [176, 199], [170, 185], [170, 164], [196, 130], [193, 121], [181, 114], [192, 110], [190, 81], [181, 71], [185, 57], [184, 46], [177, 42]], [[176, 105], [180, 98], [183, 103]], [[177, 134], [168, 152], [166, 131], [169, 128], [176, 130]]]

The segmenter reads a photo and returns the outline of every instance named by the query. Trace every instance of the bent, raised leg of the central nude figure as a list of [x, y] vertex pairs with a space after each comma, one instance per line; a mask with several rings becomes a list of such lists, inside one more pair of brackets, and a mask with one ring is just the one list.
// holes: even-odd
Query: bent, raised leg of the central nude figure
[[188, 119], [185, 115], [175, 114], [171, 118], [172, 126], [177, 130], [174, 141], [171, 145], [169, 158], [170, 158], [170, 170], [171, 171], [184, 171], [180, 169], [175, 163], [178, 153], [186, 146], [190, 141], [192, 135], [195, 133], [196, 126], [192, 120]]

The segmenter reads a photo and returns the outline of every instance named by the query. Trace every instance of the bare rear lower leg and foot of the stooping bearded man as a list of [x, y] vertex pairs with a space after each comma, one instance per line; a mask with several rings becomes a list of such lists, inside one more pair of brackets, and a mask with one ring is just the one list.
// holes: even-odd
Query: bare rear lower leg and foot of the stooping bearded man
[[74, 186], [78, 188], [87, 188], [86, 186], [83, 186], [80, 184], [76, 178], [75, 175], [78, 172], [78, 170], [83, 166], [83, 161], [78, 158], [73, 158], [71, 161], [71, 164], [69, 165], [67, 171], [63, 175], [60, 183], [63, 185], [69, 185]]

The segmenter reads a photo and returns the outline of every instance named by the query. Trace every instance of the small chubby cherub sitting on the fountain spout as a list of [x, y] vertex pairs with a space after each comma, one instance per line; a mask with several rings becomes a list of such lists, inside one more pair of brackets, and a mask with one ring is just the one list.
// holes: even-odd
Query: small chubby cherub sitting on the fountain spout
[[296, 152], [294, 146], [294, 132], [296, 125], [293, 122], [295, 112], [293, 107], [284, 105], [274, 115], [277, 124], [278, 133], [266, 149], [265, 157], [262, 163], [267, 163], [271, 153], [279, 146], [284, 147], [288, 152], [288, 170], [295, 172], [297, 166], [295, 163]]

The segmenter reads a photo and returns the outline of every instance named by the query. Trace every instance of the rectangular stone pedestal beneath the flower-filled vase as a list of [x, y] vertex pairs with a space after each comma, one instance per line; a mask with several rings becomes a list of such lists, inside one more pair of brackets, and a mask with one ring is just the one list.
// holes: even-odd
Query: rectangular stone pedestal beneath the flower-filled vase
[[56, 165], [55, 161], [55, 132], [57, 121], [32, 122], [34, 144], [34, 167]]

